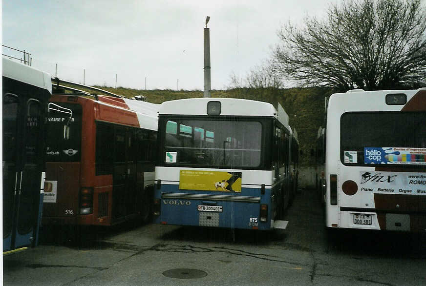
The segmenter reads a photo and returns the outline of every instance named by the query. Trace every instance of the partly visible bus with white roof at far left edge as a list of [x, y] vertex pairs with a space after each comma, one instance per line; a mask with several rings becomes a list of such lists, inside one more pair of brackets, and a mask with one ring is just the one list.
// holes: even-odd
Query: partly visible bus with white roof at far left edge
[[3, 58], [3, 254], [37, 245], [50, 75]]

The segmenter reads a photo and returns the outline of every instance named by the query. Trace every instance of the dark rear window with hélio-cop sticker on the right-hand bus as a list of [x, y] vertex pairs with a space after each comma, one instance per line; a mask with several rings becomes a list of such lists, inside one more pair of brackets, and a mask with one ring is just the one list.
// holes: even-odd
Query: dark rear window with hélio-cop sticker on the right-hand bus
[[341, 116], [341, 162], [426, 164], [425, 112], [349, 112]]

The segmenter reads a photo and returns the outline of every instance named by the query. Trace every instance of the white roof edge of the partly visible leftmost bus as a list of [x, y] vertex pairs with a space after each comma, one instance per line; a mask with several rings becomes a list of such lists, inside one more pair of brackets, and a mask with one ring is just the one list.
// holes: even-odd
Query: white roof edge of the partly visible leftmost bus
[[52, 93], [52, 82], [48, 73], [4, 57], [2, 64], [3, 77], [47, 89]]

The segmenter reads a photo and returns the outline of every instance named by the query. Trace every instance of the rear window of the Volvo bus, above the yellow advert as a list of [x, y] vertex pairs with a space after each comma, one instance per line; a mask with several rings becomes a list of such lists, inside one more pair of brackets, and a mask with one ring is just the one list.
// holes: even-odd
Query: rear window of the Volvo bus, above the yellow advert
[[262, 124], [256, 121], [167, 121], [166, 164], [205, 167], [258, 167]]

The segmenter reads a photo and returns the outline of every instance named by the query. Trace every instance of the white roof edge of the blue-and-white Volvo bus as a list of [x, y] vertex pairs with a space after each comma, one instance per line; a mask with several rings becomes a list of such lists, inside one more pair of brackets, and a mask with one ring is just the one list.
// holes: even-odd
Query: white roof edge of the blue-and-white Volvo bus
[[[277, 118], [288, 126], [288, 116], [284, 109], [280, 112], [271, 103], [234, 98], [191, 98], [161, 103], [159, 114], [207, 115], [207, 103], [220, 102], [221, 116], [268, 116]], [[280, 116], [279, 116], [280, 115]], [[287, 117], [286, 117], [287, 116]]]

